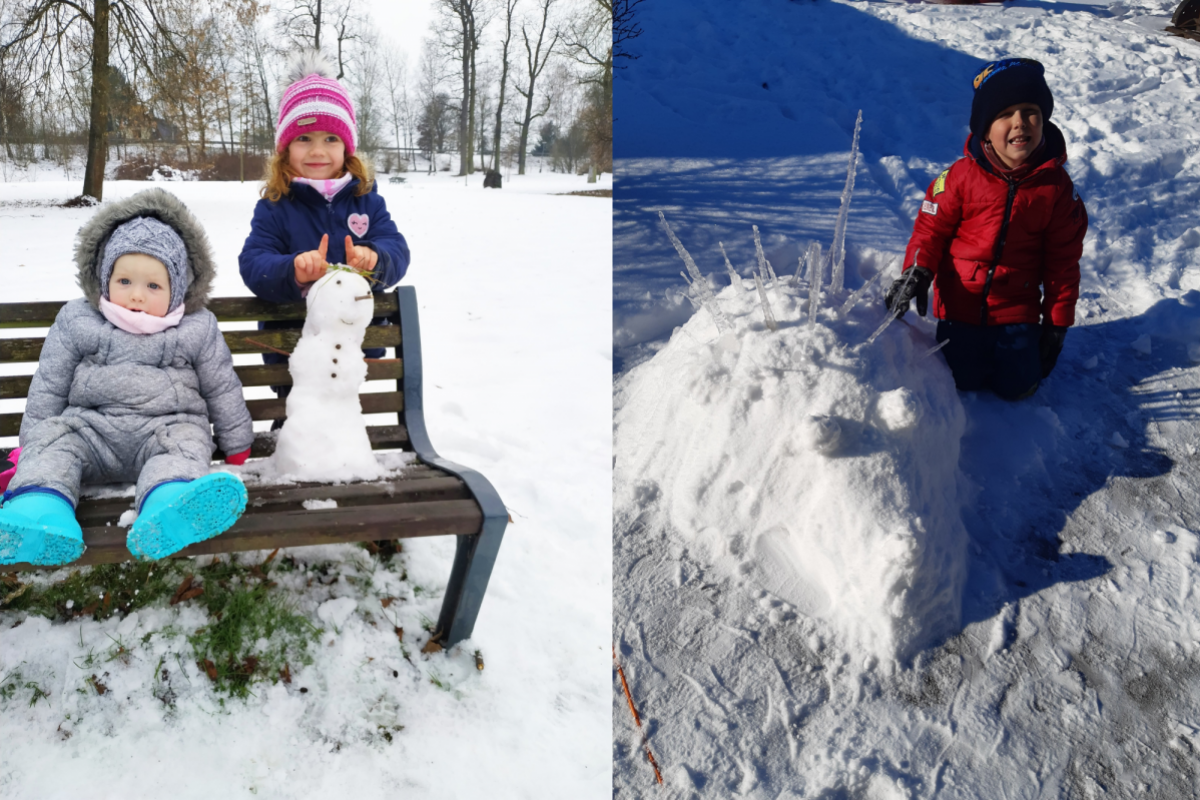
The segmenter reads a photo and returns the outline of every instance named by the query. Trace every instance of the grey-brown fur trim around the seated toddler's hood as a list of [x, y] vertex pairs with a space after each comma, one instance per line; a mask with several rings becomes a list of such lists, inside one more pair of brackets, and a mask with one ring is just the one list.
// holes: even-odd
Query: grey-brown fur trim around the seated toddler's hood
[[154, 217], [179, 233], [187, 247], [188, 261], [185, 313], [191, 314], [206, 307], [212, 278], [217, 273], [208, 234], [182, 200], [164, 190], [151, 188], [124, 200], [106, 203], [79, 229], [76, 237], [76, 269], [79, 271], [79, 288], [92, 308], [100, 308], [100, 264], [104, 245], [118, 225], [134, 217]]

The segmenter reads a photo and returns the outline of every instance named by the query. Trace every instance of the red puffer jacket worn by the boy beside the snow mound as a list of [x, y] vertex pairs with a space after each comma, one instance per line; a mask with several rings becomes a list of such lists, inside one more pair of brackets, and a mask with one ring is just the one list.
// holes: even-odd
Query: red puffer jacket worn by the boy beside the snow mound
[[1020, 180], [994, 172], [971, 137], [925, 192], [904, 264], [934, 272], [938, 319], [1075, 323], [1087, 210], [1062, 168], [1062, 133], [1046, 122], [1044, 136], [1045, 161]]

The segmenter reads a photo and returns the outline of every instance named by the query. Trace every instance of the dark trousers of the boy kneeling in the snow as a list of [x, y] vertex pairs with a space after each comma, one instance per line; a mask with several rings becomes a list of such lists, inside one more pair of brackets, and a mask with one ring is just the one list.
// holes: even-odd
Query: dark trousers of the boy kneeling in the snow
[[959, 391], [990, 389], [1010, 401], [1028, 397], [1038, 387], [1040, 335], [1042, 326], [1032, 323], [971, 325], [937, 320], [937, 341], [949, 339], [942, 354]]

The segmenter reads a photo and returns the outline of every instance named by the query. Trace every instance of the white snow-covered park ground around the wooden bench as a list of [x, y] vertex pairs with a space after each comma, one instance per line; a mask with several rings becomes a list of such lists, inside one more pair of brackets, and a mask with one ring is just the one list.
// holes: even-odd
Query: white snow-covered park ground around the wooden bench
[[[78, 295], [73, 236], [91, 212], [54, 205], [78, 181], [36, 178], [0, 184], [5, 302]], [[358, 547], [293, 551], [275, 591], [324, 633], [289, 685], [246, 700], [197, 667], [187, 637], [210, 620], [194, 603], [67, 624], [0, 609], [0, 795], [607, 796], [611, 200], [560, 196], [596, 188], [586, 178], [481, 181], [380, 186], [413, 252], [433, 444], [514, 518], [474, 637], [420, 651], [454, 553], [442, 539], [406, 540], [388, 567]], [[248, 294], [236, 258], [257, 184], [166, 186], [208, 229], [215, 295]]]

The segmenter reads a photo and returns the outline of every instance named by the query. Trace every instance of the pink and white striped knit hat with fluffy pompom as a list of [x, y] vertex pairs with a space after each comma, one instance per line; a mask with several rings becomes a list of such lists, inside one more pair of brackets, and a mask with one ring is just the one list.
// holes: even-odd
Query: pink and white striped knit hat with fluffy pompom
[[290, 85], [280, 101], [280, 120], [275, 125], [275, 149], [283, 152], [301, 133], [329, 131], [346, 143], [346, 155], [354, 152], [359, 134], [354, 121], [354, 103], [334, 71], [317, 50], [302, 50], [293, 56], [288, 68]]

